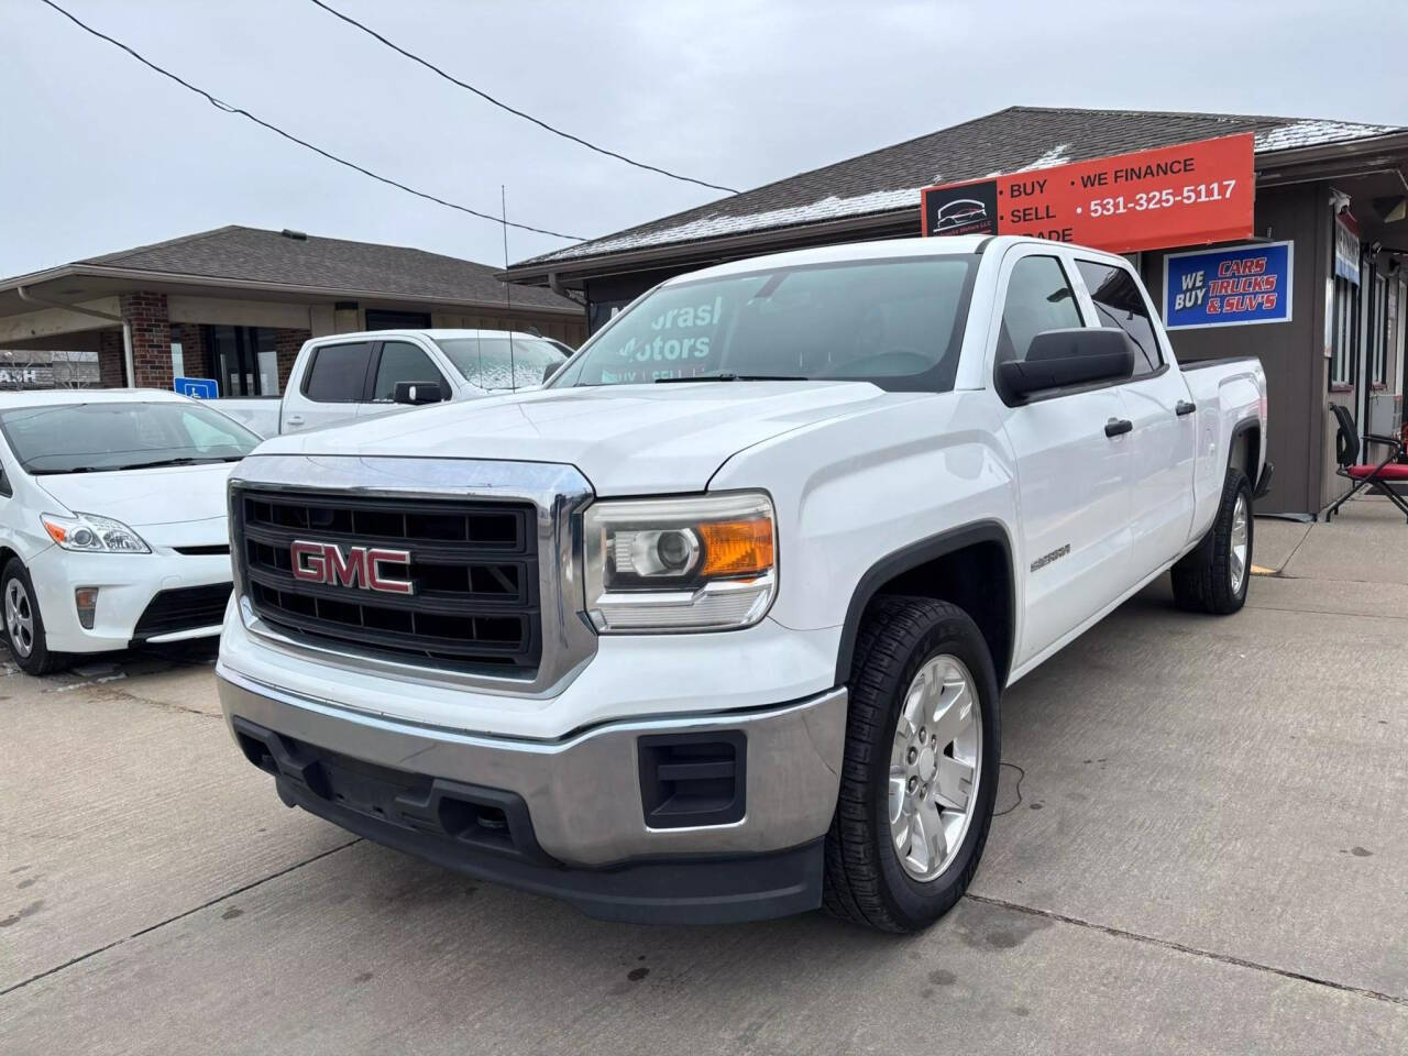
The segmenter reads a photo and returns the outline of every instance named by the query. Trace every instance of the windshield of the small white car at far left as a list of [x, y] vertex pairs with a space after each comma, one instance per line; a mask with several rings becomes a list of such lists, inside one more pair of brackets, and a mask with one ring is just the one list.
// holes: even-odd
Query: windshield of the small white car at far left
[[0, 429], [34, 476], [238, 462], [259, 436], [194, 401], [65, 403], [0, 411]]

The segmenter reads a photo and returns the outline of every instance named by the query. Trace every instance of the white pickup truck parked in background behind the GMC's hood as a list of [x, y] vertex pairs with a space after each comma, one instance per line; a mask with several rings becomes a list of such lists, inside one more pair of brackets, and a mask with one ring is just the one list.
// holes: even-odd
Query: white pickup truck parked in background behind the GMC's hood
[[505, 329], [332, 334], [304, 342], [282, 398], [232, 397], [211, 406], [260, 436], [277, 436], [408, 406], [534, 389], [570, 353], [551, 338]]

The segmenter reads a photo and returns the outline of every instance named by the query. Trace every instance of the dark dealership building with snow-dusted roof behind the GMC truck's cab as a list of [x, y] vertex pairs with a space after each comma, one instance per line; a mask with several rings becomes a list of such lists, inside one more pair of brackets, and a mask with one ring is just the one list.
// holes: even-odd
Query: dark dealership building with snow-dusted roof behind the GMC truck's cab
[[[653, 284], [697, 268], [918, 237], [925, 187], [1238, 135], [1250, 137], [1250, 231], [1231, 241], [1142, 239], [1146, 248], [1128, 256], [1169, 322], [1180, 360], [1262, 360], [1267, 456], [1277, 472], [1260, 510], [1316, 514], [1346, 490], [1335, 476], [1331, 404], [1350, 408], [1362, 432], [1402, 428], [1408, 128], [1010, 107], [524, 260], [507, 277], [583, 297], [596, 329]], [[939, 222], [974, 211], [977, 203], [957, 204]], [[1131, 214], [1128, 225], [1135, 235], [1140, 222], [1152, 231], [1159, 222], [1152, 217]], [[1204, 297], [1204, 286], [1212, 296]]]

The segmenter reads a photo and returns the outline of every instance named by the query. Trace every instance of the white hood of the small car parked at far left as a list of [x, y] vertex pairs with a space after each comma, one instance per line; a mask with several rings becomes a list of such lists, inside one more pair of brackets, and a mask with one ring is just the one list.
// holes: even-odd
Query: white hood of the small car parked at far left
[[213, 462], [120, 473], [52, 473], [34, 482], [70, 511], [111, 517], [141, 529], [225, 517], [225, 480], [237, 465]]

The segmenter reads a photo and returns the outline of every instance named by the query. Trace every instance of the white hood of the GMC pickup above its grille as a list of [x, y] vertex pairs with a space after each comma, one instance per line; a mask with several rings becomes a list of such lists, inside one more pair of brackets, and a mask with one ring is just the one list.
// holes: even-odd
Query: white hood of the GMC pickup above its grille
[[[773, 436], [912, 398], [867, 382], [698, 382], [548, 389], [449, 403], [279, 436], [259, 455], [570, 463], [597, 494], [700, 491], [731, 456]], [[258, 476], [258, 469], [255, 469]]]

